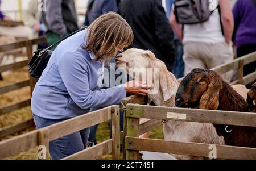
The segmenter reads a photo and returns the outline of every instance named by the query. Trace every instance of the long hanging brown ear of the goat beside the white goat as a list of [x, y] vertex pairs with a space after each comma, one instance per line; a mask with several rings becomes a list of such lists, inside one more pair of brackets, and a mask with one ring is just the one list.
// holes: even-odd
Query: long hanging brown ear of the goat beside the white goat
[[220, 93], [220, 80], [218, 78], [211, 78], [208, 89], [204, 92], [200, 99], [199, 109], [218, 109], [218, 97]]

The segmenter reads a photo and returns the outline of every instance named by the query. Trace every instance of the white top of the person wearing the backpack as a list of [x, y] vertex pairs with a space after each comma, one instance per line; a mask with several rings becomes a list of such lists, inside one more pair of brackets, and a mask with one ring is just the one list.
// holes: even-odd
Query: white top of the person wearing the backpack
[[209, 20], [198, 24], [185, 24], [183, 43], [187, 41], [203, 43], [222, 43], [225, 41], [221, 32], [220, 14], [214, 11]]

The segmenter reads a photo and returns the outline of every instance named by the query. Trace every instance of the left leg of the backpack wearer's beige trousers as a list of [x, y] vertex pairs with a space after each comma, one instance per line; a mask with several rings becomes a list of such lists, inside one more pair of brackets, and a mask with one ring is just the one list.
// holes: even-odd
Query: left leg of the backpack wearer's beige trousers
[[184, 76], [194, 68], [206, 68], [204, 61], [200, 57], [200, 45], [200, 43], [196, 42], [184, 43]]

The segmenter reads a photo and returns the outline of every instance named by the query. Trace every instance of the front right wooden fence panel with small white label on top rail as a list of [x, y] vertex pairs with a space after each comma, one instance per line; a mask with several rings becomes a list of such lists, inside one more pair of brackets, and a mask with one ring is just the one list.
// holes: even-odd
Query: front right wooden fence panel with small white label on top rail
[[[126, 159], [138, 159], [139, 151], [208, 157], [210, 152], [209, 147], [213, 145], [139, 139], [139, 118], [256, 127], [256, 114], [247, 112], [181, 109], [175, 107], [127, 104], [126, 117]], [[219, 159], [256, 159], [256, 148], [232, 147], [228, 145], [214, 146], [217, 149], [217, 158]]]

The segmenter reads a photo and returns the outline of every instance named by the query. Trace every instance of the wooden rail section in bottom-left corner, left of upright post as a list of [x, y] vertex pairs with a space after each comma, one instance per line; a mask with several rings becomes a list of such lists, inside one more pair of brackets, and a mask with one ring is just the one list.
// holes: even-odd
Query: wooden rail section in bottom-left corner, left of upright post
[[0, 159], [27, 151], [30, 148], [36, 147], [36, 145], [38, 145], [37, 130], [0, 141]]

